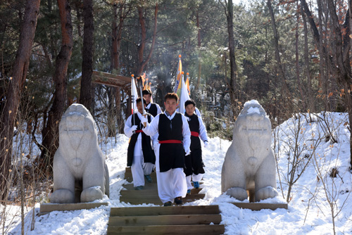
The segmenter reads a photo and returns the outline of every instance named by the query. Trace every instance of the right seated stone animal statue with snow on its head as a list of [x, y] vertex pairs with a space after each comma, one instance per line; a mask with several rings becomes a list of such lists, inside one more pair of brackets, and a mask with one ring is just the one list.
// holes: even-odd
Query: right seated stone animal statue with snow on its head
[[240, 201], [278, 196], [271, 122], [258, 101], [246, 102], [234, 122], [232, 144], [222, 165], [221, 190]]

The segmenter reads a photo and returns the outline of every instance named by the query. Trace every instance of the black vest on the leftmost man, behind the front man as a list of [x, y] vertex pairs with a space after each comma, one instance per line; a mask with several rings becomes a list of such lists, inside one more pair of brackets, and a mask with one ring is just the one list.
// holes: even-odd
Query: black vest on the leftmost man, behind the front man
[[[148, 114], [147, 118], [148, 118], [148, 122], [151, 122], [151, 115]], [[142, 123], [141, 123], [141, 120], [139, 120], [137, 113], [134, 113], [134, 115], [131, 118], [131, 126], [132, 125], [137, 125], [137, 130], [142, 129]], [[142, 152], [143, 152], [144, 163], [155, 164], [156, 157], [153, 149], [151, 148], [151, 137], [144, 134], [144, 132], [140, 132], [140, 133], [136, 132], [132, 134], [130, 139], [130, 144], [128, 145], [128, 148], [127, 148], [127, 167], [130, 167], [132, 165], [133, 156], [134, 156], [134, 146], [136, 145], [139, 134], [142, 134]]]

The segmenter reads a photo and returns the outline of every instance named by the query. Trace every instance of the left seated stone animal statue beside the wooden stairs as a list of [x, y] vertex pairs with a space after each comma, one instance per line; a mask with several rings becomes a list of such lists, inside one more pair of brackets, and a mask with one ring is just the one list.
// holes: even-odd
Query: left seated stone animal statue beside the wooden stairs
[[58, 127], [51, 203], [85, 203], [109, 193], [108, 167], [98, 145], [96, 125], [87, 108], [73, 104]]

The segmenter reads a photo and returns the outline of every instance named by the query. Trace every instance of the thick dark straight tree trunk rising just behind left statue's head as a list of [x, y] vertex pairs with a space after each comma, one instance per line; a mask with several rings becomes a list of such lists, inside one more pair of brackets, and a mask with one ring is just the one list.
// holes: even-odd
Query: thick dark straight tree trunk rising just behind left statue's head
[[80, 103], [92, 111], [92, 73], [93, 73], [93, 37], [94, 18], [93, 1], [83, 0], [83, 50], [82, 50], [82, 79]]

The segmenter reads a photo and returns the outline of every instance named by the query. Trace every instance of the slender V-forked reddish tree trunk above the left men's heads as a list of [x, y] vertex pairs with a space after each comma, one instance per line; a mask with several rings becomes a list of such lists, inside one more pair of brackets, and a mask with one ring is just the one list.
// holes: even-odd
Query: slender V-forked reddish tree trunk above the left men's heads
[[137, 75], [141, 75], [144, 67], [149, 62], [151, 58], [151, 54], [153, 53], [154, 45], [156, 42], [156, 26], [158, 23], [158, 3], [156, 3], [155, 11], [154, 11], [154, 29], [153, 29], [153, 39], [151, 42], [151, 49], [149, 50], [148, 56], [144, 59], [144, 49], [146, 47], [146, 23], [143, 14], [142, 6], [138, 6], [138, 15], [139, 15], [139, 23], [141, 25], [141, 42], [139, 43], [137, 49], [137, 56], [138, 56], [138, 65], [137, 65]]

